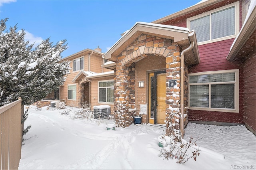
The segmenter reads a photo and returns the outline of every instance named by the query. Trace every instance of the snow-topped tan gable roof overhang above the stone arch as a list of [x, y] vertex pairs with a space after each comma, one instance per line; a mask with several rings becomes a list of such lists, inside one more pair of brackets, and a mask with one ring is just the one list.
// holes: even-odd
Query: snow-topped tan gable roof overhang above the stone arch
[[[136, 38], [138, 38], [141, 34], [171, 39], [178, 45], [180, 45], [182, 49], [188, 47], [190, 45], [190, 41], [196, 40], [195, 32], [190, 32], [188, 28], [137, 22], [105, 53], [105, 59], [116, 62], [117, 56], [120, 55], [120, 53], [124, 51], [124, 49], [126, 49], [128, 45], [134, 42], [134, 40], [136, 40]], [[196, 58], [199, 59], [196, 41], [194, 48], [195, 49], [193, 50], [193, 52], [195, 52], [195, 54], [192, 55], [195, 55]], [[196, 63], [199, 63], [199, 61], [192, 62], [192, 64]]]

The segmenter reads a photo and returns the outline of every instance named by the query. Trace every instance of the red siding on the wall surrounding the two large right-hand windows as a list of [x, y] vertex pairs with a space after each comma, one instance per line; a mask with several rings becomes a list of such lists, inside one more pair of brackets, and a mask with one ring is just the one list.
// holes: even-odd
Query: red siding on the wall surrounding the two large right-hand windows
[[[217, 4], [208, 6], [206, 8], [193, 11], [183, 16], [178, 16], [172, 20], [166, 21], [162, 24], [187, 27], [186, 18], [202, 14], [204, 12], [225, 6], [227, 4], [236, 2], [220, 1]], [[240, 14], [239, 25], [242, 27], [242, 1], [240, 1]], [[191, 121], [216, 121], [216, 122], [229, 122], [229, 123], [244, 123], [244, 72], [241, 62], [230, 62], [226, 59], [234, 38], [220, 42], [208, 43], [198, 46], [200, 54], [200, 63], [189, 68], [189, 73], [197, 73], [202, 71], [218, 71], [227, 69], [239, 69], [239, 113], [226, 113], [215, 111], [197, 111], [189, 110], [189, 120]], [[254, 71], [255, 73], [255, 71]], [[250, 83], [248, 83], [249, 85]], [[250, 87], [248, 87], [249, 90]], [[255, 116], [255, 111], [254, 111]], [[252, 115], [248, 116], [251, 118]], [[255, 120], [255, 117], [254, 117]], [[255, 124], [254, 124], [255, 125]]]

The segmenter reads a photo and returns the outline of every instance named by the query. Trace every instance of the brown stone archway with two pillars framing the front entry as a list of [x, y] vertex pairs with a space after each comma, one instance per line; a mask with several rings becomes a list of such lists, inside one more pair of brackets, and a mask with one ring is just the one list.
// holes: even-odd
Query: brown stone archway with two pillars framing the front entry
[[[117, 56], [115, 71], [115, 103], [117, 122], [121, 127], [132, 124], [136, 94], [134, 63], [148, 55], [166, 58], [166, 133], [180, 130], [180, 47], [172, 39], [141, 34]], [[169, 80], [176, 80], [176, 87], [169, 87]], [[134, 103], [135, 105], [135, 103]], [[176, 129], [176, 130], [174, 130]]]

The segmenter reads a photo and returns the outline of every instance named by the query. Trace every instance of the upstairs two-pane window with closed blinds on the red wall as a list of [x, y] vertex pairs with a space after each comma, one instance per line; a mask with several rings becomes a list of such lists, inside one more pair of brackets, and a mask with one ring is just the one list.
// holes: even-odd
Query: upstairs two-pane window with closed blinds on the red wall
[[199, 45], [235, 38], [239, 32], [239, 2], [188, 18], [187, 25], [196, 31]]

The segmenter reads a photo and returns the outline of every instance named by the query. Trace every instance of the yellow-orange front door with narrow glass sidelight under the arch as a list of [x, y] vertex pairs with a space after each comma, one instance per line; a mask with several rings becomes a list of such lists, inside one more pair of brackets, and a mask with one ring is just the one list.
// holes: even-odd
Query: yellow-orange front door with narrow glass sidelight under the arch
[[149, 74], [149, 123], [165, 124], [166, 118], [166, 73], [157, 71]]

